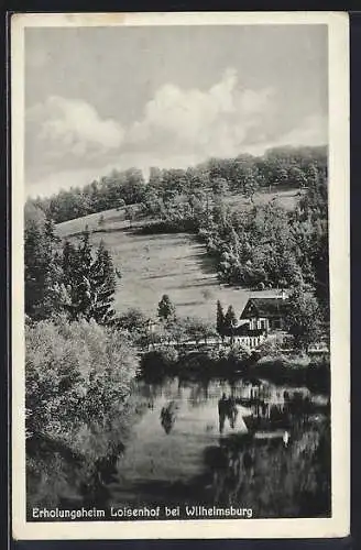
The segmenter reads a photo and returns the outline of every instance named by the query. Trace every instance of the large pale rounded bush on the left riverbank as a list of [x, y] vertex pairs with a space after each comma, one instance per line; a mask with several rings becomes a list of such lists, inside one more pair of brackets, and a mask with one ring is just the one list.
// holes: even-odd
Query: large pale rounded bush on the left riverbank
[[65, 318], [28, 326], [25, 344], [28, 432], [81, 452], [84, 428], [103, 426], [123, 407], [136, 372], [134, 349], [94, 320]]

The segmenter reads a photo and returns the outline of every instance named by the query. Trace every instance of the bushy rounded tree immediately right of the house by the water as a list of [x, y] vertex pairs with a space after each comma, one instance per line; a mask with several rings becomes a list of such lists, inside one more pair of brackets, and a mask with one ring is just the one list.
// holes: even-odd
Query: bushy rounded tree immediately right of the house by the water
[[317, 299], [302, 286], [295, 288], [289, 296], [285, 322], [295, 348], [299, 350], [307, 350], [320, 337], [321, 315]]

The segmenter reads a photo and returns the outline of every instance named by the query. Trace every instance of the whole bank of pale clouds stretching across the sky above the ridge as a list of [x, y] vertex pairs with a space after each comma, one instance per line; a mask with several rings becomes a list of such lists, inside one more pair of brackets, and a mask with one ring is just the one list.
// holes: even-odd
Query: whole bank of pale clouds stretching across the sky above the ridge
[[327, 143], [326, 117], [292, 112], [275, 89], [241, 86], [232, 68], [208, 89], [164, 84], [128, 127], [81, 99], [52, 96], [26, 112], [26, 185], [48, 195], [112, 168], [136, 166], [146, 175], [150, 166]]

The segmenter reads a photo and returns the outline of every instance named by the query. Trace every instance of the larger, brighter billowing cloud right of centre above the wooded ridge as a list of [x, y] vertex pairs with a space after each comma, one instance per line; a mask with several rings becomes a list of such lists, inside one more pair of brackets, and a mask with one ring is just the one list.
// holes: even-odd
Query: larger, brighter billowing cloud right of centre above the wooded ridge
[[166, 84], [145, 105], [128, 140], [143, 147], [156, 144], [166, 151], [182, 147], [203, 156], [231, 156], [270, 116], [273, 95], [270, 88], [241, 88], [232, 68], [206, 91]]

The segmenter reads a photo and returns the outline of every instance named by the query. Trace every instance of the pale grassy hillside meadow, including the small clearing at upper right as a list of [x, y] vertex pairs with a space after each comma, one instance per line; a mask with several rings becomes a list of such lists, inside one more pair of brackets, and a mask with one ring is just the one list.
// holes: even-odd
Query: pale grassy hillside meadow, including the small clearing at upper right
[[[291, 207], [292, 202], [295, 204], [296, 194], [294, 189], [262, 193], [254, 197], [254, 202], [276, 197]], [[230, 196], [228, 200], [234, 208], [249, 206], [249, 201], [241, 196]], [[103, 223], [99, 226], [101, 216]], [[136, 234], [133, 229], [142, 223], [144, 220], [133, 222], [130, 228], [123, 209], [107, 210], [59, 223], [57, 233], [61, 238], [76, 240], [88, 226], [94, 245], [103, 240], [114, 266], [122, 274], [122, 278], [117, 280], [114, 301], [119, 312], [135, 307], [155, 316], [157, 302], [163, 294], [167, 294], [179, 316], [195, 316], [214, 322], [218, 299], [225, 308], [232, 304], [236, 314], [241, 315], [248, 298], [254, 293], [220, 285], [205, 246], [194, 235]], [[256, 294], [274, 295], [274, 290]]]

